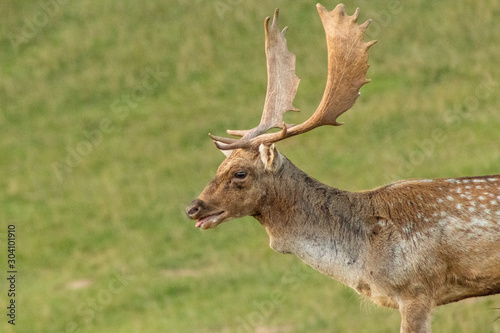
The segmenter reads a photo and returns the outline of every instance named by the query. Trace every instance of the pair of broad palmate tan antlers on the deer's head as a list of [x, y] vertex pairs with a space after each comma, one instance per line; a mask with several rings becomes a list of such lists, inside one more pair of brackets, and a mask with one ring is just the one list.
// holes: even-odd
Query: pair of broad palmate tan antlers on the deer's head
[[[298, 111], [293, 105], [300, 79], [295, 75], [295, 55], [288, 51], [285, 32], [278, 29], [278, 10], [264, 22], [266, 30], [267, 95], [259, 126], [251, 130], [228, 130], [241, 139], [213, 136], [216, 146], [222, 150], [256, 147], [262, 143], [271, 144], [285, 138], [308, 132], [323, 125], [341, 125], [337, 118], [349, 110], [359, 96], [359, 89], [369, 80], [368, 49], [375, 41], [364, 42], [363, 34], [371, 20], [358, 25], [359, 10], [348, 16], [340, 4], [328, 12], [317, 4], [328, 47], [328, 79], [321, 102], [314, 114], [299, 125], [283, 122], [286, 111]], [[280, 132], [266, 133], [271, 128]]]

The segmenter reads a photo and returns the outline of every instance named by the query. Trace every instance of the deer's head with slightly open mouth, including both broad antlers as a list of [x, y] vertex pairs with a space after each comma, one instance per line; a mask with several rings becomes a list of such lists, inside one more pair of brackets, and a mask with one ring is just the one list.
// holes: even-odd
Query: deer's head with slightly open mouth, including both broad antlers
[[[255, 216], [275, 186], [274, 178], [286, 159], [274, 147], [285, 138], [308, 132], [323, 125], [341, 125], [337, 118], [354, 104], [365, 83], [368, 49], [375, 41], [364, 42], [363, 33], [370, 21], [358, 25], [358, 10], [348, 16], [344, 5], [327, 11], [317, 5], [328, 47], [328, 78], [317, 110], [299, 125], [285, 124], [286, 111], [298, 111], [293, 105], [300, 79], [295, 74], [295, 55], [288, 51], [285, 32], [278, 28], [278, 10], [264, 21], [268, 84], [260, 124], [250, 130], [228, 130], [241, 137], [210, 135], [227, 156], [215, 178], [198, 199], [186, 208], [196, 226], [213, 228], [221, 222], [246, 215]], [[267, 133], [272, 128], [279, 132]]]

